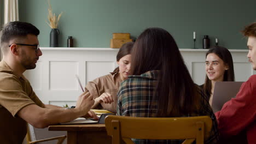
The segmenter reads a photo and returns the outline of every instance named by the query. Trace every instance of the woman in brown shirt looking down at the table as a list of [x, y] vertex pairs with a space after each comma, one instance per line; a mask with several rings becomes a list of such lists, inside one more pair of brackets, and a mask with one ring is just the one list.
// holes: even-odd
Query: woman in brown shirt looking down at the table
[[87, 83], [85, 91], [94, 96], [92, 109], [117, 110], [117, 92], [122, 81], [130, 75], [133, 42], [123, 44], [117, 54], [118, 67], [108, 74]]

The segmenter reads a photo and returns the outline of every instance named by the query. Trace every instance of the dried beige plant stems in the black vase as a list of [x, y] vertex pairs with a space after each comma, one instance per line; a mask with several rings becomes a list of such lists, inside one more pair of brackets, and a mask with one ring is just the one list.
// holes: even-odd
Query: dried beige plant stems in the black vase
[[48, 20], [49, 22], [46, 21], [46, 23], [51, 27], [51, 28], [57, 28], [58, 23], [60, 21], [60, 17], [62, 15], [62, 12], [58, 15], [58, 17], [53, 14], [53, 9], [51, 8], [50, 0], [48, 0]]

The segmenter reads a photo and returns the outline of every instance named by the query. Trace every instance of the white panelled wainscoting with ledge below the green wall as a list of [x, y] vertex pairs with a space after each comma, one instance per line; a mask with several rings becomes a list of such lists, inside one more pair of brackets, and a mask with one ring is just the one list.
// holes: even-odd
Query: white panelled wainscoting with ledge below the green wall
[[[75, 105], [82, 93], [75, 75], [82, 85], [96, 77], [106, 75], [118, 67], [116, 55], [119, 49], [82, 47], [40, 47], [43, 55], [37, 68], [27, 70], [34, 91], [45, 104]], [[179, 49], [193, 80], [201, 85], [205, 80], [205, 53], [207, 49]], [[256, 74], [248, 62], [248, 50], [230, 50], [236, 81], [246, 81]]]

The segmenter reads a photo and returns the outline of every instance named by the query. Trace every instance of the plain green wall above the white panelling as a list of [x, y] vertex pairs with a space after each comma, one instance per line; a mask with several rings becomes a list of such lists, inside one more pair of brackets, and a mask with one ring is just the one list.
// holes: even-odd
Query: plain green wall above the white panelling
[[[241, 29], [256, 20], [255, 0], [51, 0], [53, 12], [63, 15], [59, 22], [60, 46], [67, 46], [69, 35], [75, 47], [109, 47], [112, 33], [131, 33], [133, 37], [148, 27], [170, 32], [180, 49], [202, 47], [203, 35], [211, 45], [228, 49], [247, 49]], [[46, 24], [46, 0], [19, 0], [20, 21], [40, 29], [39, 41], [49, 47], [50, 27]]]

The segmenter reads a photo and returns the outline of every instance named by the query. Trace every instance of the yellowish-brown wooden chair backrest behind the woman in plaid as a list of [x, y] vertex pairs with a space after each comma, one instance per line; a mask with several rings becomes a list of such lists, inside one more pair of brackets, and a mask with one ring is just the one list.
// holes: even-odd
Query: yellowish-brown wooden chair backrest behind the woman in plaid
[[134, 139], [174, 140], [186, 139], [183, 143], [196, 144], [204, 142], [210, 136], [212, 119], [208, 116], [175, 117], [175, 118], [146, 118], [107, 116], [106, 129], [112, 136], [112, 143], [133, 143]]

